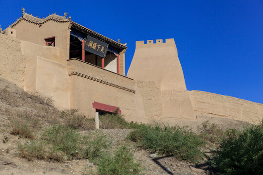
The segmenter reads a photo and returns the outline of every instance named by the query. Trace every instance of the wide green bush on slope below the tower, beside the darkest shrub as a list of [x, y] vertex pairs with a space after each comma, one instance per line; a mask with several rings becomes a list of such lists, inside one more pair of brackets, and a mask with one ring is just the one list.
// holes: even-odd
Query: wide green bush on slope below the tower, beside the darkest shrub
[[175, 155], [190, 162], [197, 162], [204, 156], [202, 147], [205, 142], [191, 130], [177, 126], [142, 126], [131, 131], [128, 139], [138, 142], [139, 146], [151, 153]]

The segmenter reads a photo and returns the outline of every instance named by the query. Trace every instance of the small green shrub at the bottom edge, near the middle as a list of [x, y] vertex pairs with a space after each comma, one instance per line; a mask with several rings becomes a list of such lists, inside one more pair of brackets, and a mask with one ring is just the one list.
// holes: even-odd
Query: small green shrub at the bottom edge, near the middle
[[98, 164], [99, 175], [138, 175], [140, 165], [126, 146], [120, 147], [113, 156], [104, 156]]

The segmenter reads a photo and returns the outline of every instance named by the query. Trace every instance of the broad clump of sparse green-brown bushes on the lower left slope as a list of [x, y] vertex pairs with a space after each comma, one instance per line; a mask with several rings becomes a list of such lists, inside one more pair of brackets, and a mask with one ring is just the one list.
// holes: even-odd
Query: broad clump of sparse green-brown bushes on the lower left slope
[[20, 144], [19, 155], [28, 160], [38, 158], [60, 162], [80, 158], [95, 159], [109, 146], [110, 141], [100, 133], [82, 136], [78, 130], [65, 125], [53, 125], [46, 128], [39, 139]]

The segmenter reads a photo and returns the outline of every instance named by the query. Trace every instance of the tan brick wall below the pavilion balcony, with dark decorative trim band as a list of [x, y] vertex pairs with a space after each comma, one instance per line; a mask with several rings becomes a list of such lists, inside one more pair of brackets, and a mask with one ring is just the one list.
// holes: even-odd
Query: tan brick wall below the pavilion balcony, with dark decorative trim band
[[69, 59], [70, 106], [94, 117], [93, 103], [119, 107], [127, 121], [136, 120], [133, 80], [77, 59]]

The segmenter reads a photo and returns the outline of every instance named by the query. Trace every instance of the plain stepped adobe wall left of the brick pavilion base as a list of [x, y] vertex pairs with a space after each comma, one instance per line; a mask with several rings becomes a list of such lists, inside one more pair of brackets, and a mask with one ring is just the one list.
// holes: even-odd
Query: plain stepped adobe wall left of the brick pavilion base
[[70, 108], [68, 69], [58, 62], [60, 50], [15, 37], [10, 28], [0, 34], [0, 76], [27, 92], [52, 97], [59, 109]]

